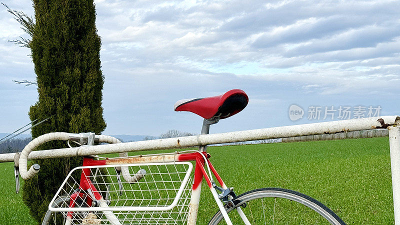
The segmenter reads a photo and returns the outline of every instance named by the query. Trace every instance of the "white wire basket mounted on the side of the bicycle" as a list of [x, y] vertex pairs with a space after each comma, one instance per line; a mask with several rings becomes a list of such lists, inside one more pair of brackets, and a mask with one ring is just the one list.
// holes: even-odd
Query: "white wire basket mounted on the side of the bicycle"
[[[144, 174], [129, 183], [116, 172], [120, 166], [127, 167], [132, 176], [138, 171]], [[190, 162], [76, 167], [49, 204], [51, 220], [55, 224], [184, 224], [189, 212], [192, 167]], [[84, 179], [90, 180], [92, 187], [83, 190], [80, 174], [87, 169], [90, 175]], [[94, 202], [97, 205], [91, 202], [93, 193], [101, 194], [103, 199]]]

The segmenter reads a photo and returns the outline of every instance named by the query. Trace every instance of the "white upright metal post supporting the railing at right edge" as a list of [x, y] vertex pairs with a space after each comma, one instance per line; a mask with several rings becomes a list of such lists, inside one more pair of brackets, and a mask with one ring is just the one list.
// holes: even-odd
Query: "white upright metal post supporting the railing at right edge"
[[390, 126], [390, 165], [391, 183], [393, 187], [394, 222], [400, 224], [400, 127]]

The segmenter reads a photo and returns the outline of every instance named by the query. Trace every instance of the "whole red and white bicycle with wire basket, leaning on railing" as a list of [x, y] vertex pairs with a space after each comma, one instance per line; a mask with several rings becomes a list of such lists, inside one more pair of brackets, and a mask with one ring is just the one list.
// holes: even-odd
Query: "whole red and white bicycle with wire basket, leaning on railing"
[[[209, 125], [238, 113], [247, 102], [244, 91], [233, 89], [214, 97], [179, 100], [174, 110], [202, 116], [201, 134], [208, 134]], [[21, 152], [23, 179], [40, 168], [34, 164], [27, 170], [30, 151], [54, 139], [67, 140], [69, 146], [69, 141], [82, 145], [120, 142], [94, 133], [44, 134]], [[195, 224], [203, 178], [219, 209], [209, 224], [345, 224], [324, 204], [297, 191], [259, 188], [236, 195], [213, 167], [206, 147], [134, 156], [121, 153], [115, 158], [85, 156], [82, 166], [69, 172], [54, 195], [42, 224]]]

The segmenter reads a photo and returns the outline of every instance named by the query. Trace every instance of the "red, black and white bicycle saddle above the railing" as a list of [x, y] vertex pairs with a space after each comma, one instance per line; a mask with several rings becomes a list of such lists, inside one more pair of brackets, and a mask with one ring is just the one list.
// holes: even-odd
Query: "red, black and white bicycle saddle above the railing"
[[218, 115], [223, 119], [243, 110], [247, 103], [247, 94], [233, 89], [218, 96], [178, 100], [173, 107], [175, 111], [191, 111], [205, 119]]

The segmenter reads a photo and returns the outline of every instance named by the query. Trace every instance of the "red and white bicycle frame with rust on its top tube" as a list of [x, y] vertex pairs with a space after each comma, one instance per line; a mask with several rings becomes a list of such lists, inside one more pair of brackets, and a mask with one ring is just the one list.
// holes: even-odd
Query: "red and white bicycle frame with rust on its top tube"
[[[197, 219], [197, 211], [198, 211], [198, 205], [199, 205], [199, 198], [200, 198], [200, 193], [201, 193], [201, 182], [204, 177], [208, 187], [210, 188], [210, 191], [218, 205], [218, 208], [221, 210], [222, 214], [224, 214], [225, 221], [227, 224], [232, 224], [223, 205], [221, 200], [218, 197], [218, 194], [216, 192], [216, 189], [213, 186], [213, 180], [212, 177], [209, 177], [205, 170], [205, 164], [208, 165], [209, 170], [212, 172], [213, 176], [216, 178], [218, 183], [223, 189], [226, 189], [226, 185], [223, 182], [222, 178], [219, 176], [213, 165], [211, 164], [209, 160], [210, 154], [207, 153], [206, 151], [200, 152], [192, 152], [192, 153], [175, 153], [175, 154], [166, 154], [166, 155], [150, 155], [150, 156], [141, 156], [139, 155], [138, 157], [129, 157], [129, 158], [114, 158], [114, 159], [104, 159], [104, 160], [94, 160], [93, 158], [89, 157], [84, 157], [83, 159], [83, 166], [92, 166], [92, 165], [116, 165], [116, 164], [138, 164], [138, 163], [152, 163], [152, 162], [178, 162], [178, 161], [195, 161], [195, 169], [194, 169], [194, 180], [193, 180], [193, 185], [192, 185], [192, 191], [191, 191], [191, 198], [190, 198], [190, 203], [189, 203], [189, 214], [188, 214], [188, 220], [187, 224], [196, 224], [196, 219]], [[90, 194], [92, 197], [100, 202], [103, 202], [104, 199], [102, 199], [101, 194], [99, 191], [94, 187], [94, 185], [91, 183], [90, 179], [87, 177], [90, 175], [90, 169], [89, 168], [84, 168], [82, 169], [81, 172], [81, 177], [79, 181], [79, 186], [82, 190], [90, 192], [92, 191], [92, 194]], [[214, 184], [215, 185], [215, 184]], [[71, 200], [69, 202], [70, 207], [75, 206], [75, 199], [79, 196], [79, 194], [83, 194], [83, 192], [76, 192], [70, 196]], [[82, 197], [82, 196], [80, 196]], [[92, 204], [92, 199], [90, 197], [86, 198], [86, 203], [87, 205]], [[248, 221], [245, 218], [245, 215], [242, 213], [240, 208], [236, 208], [242, 216], [244, 221]], [[72, 218], [72, 213], [73, 212], [68, 212], [68, 218]], [[108, 215], [112, 217], [112, 212], [108, 212]], [[107, 215], [106, 215], [107, 216]], [[110, 219], [107, 216], [108, 219]], [[115, 217], [116, 218], [116, 217]], [[112, 218], [111, 218], [112, 219]], [[115, 223], [118, 224], [118, 223]], [[249, 224], [249, 223], [248, 223]]]

